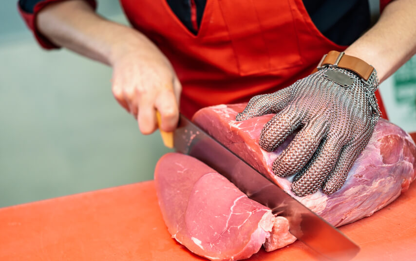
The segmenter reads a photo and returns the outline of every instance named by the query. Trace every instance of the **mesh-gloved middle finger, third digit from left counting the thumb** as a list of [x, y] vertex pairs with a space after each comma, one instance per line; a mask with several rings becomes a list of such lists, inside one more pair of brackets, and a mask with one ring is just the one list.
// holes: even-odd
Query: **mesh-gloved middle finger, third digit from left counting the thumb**
[[273, 172], [279, 177], [298, 173], [312, 158], [327, 129], [324, 119], [306, 124], [273, 162]]

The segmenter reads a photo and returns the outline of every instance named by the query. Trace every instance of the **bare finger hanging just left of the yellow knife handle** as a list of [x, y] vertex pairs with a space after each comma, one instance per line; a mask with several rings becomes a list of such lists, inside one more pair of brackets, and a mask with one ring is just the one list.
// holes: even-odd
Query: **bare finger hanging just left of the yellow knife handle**
[[151, 134], [157, 129], [154, 97], [150, 94], [145, 94], [140, 97], [137, 122], [139, 124], [140, 131], [145, 135]]

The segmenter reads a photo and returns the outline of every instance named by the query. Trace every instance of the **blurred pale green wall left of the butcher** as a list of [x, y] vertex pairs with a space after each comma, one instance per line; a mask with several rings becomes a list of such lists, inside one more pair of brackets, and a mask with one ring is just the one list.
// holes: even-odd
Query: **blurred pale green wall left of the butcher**
[[[127, 23], [114, 3], [100, 1], [99, 12]], [[41, 50], [15, 3], [7, 4], [0, 13], [0, 24], [10, 24], [0, 26], [0, 207], [152, 179], [169, 150], [158, 132], [142, 135], [117, 104], [111, 68]]]

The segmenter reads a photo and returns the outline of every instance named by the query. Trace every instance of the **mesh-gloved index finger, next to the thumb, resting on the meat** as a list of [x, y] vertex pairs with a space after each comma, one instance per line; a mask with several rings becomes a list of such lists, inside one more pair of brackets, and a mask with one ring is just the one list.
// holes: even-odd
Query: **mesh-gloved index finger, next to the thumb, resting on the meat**
[[267, 151], [273, 151], [302, 123], [305, 112], [297, 112], [292, 106], [274, 115], [260, 133], [259, 145]]

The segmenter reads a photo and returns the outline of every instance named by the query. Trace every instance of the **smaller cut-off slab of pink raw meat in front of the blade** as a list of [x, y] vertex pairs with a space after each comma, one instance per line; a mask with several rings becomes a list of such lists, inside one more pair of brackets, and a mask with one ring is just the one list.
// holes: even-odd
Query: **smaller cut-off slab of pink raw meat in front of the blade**
[[240, 260], [266, 241], [274, 250], [296, 240], [285, 218], [218, 172], [187, 155], [168, 153], [157, 163], [154, 180], [163, 219], [179, 243], [210, 260]]

